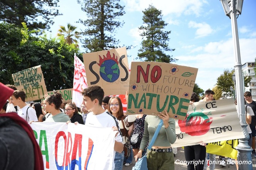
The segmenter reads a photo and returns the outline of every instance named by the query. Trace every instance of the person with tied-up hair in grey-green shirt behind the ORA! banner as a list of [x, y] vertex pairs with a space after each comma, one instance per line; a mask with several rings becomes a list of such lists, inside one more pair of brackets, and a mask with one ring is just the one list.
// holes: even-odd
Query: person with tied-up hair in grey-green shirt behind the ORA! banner
[[69, 116], [62, 113], [59, 108], [62, 104], [62, 94], [55, 91], [54, 94], [47, 96], [43, 101], [43, 107], [50, 115], [46, 117], [46, 122], [67, 122], [70, 121]]

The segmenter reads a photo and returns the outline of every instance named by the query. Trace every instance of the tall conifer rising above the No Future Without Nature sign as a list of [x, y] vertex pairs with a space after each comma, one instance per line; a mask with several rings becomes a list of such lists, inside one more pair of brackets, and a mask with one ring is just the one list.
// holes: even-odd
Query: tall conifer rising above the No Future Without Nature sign
[[143, 25], [139, 27], [142, 31], [140, 36], [143, 36], [139, 58], [144, 61], [175, 62], [177, 59], [164, 53], [175, 49], [168, 47], [171, 31], [164, 31], [167, 24], [162, 20], [162, 11], [150, 5], [143, 13]]

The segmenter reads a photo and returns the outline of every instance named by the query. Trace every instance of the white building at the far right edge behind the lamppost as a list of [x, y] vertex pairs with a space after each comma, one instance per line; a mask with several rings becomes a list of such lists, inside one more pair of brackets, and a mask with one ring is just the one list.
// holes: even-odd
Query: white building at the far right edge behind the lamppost
[[255, 62], [246, 62], [242, 66], [242, 71], [245, 75], [250, 76], [252, 80], [248, 83], [248, 87], [245, 87], [245, 92], [252, 93], [252, 100], [256, 101], [256, 77], [254, 72]]

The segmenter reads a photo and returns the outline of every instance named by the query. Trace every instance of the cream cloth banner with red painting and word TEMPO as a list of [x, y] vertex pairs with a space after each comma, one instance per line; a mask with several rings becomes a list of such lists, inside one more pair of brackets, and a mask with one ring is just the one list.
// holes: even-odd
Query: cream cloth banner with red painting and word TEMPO
[[189, 105], [186, 120], [176, 121], [172, 147], [244, 138], [233, 98]]

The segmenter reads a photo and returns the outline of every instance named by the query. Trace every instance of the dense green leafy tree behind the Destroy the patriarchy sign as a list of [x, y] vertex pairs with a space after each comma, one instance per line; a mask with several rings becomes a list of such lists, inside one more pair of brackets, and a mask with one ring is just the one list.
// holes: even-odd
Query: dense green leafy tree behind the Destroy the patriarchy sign
[[[23, 41], [28, 35], [27, 41]], [[25, 28], [0, 23], [0, 81], [13, 84], [12, 74], [41, 65], [47, 91], [73, 87], [74, 53], [81, 55], [64, 37], [32, 36]]]

